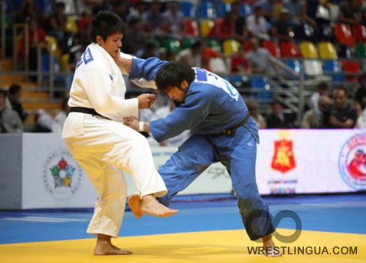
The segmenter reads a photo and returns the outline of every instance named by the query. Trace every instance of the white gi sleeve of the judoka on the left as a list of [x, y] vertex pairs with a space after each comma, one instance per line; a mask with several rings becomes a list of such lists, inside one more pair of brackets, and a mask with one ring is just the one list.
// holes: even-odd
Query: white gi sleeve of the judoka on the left
[[134, 116], [138, 118], [139, 103], [137, 98], [124, 99], [113, 94], [113, 81], [106, 70], [101, 67], [89, 67], [85, 78], [84, 90], [88, 101], [102, 116], [115, 119]]

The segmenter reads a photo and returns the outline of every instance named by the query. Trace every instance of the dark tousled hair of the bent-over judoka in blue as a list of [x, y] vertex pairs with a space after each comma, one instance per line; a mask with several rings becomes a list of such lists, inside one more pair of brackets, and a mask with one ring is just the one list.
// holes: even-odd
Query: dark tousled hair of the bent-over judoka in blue
[[195, 80], [192, 67], [182, 61], [171, 61], [162, 66], [157, 72], [156, 86], [160, 92], [167, 92], [171, 87], [178, 87], [183, 81], [190, 85]]

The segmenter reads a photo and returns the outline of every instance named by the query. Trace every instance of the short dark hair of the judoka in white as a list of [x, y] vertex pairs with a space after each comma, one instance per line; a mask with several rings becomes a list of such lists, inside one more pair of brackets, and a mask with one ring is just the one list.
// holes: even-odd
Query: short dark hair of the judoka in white
[[96, 43], [97, 36], [102, 36], [102, 39], [106, 41], [107, 37], [115, 32], [124, 34], [124, 21], [112, 11], [99, 11], [92, 22], [90, 31], [92, 41]]

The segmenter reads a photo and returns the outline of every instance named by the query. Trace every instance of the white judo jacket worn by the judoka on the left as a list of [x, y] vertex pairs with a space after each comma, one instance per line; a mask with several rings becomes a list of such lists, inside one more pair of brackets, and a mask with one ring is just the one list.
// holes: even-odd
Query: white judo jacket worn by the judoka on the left
[[[131, 58], [131, 55], [122, 52], [120, 54], [122, 57]], [[95, 109], [102, 116], [117, 122], [123, 122], [124, 117], [138, 118], [137, 98], [124, 98], [126, 85], [122, 74], [128, 72], [120, 69], [104, 48], [97, 43], [88, 45], [77, 62], [68, 105]], [[156, 88], [155, 83], [147, 83], [144, 80], [135, 83]], [[61, 137], [83, 135], [83, 119], [84, 114], [71, 112], [64, 124]]]

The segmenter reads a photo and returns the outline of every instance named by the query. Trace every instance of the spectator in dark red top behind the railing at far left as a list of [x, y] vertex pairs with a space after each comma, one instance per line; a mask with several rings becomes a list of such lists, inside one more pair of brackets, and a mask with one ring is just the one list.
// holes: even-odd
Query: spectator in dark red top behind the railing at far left
[[[41, 53], [46, 52], [46, 32], [42, 28], [39, 28], [37, 19], [31, 17], [29, 20], [29, 34], [28, 34], [28, 46], [29, 46], [29, 56], [28, 65], [29, 70], [36, 71], [38, 56], [37, 48], [41, 49]], [[26, 32], [21, 34], [21, 41], [19, 45], [19, 58], [21, 60], [26, 59]], [[30, 76], [32, 81], [37, 80], [37, 76]]]

